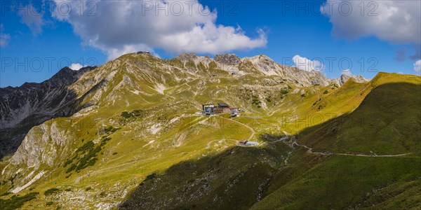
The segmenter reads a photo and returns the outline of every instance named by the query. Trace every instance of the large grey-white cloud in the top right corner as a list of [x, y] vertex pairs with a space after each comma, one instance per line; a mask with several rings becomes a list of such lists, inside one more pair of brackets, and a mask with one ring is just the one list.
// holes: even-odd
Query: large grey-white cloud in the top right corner
[[420, 8], [421, 1], [328, 0], [321, 6], [321, 13], [330, 18], [335, 36], [376, 36], [392, 43], [421, 43]]

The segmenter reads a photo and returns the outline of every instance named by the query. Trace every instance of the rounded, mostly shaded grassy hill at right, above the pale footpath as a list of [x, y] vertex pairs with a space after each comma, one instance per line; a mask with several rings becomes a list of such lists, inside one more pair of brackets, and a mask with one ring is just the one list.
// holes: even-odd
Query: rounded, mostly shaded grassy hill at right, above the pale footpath
[[303, 130], [298, 142], [314, 151], [420, 154], [420, 77], [380, 73], [370, 83], [358, 109]]

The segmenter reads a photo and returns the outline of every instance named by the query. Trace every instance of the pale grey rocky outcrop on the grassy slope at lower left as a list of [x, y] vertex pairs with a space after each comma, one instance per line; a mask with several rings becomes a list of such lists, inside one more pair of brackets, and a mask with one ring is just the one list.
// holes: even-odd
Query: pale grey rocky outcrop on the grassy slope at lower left
[[11, 192], [19, 193], [65, 161], [74, 139], [72, 131], [57, 122], [32, 127], [1, 172], [1, 176], [15, 177]]

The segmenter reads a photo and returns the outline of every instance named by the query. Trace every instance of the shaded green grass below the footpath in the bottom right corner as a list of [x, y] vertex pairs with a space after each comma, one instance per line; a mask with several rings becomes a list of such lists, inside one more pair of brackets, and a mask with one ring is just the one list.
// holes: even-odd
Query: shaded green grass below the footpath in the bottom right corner
[[[417, 180], [421, 172], [418, 157], [365, 158], [335, 155], [281, 186], [252, 209], [348, 209], [361, 202], [381, 204], [390, 199], [375, 193], [385, 187], [402, 187]], [[417, 181], [419, 182], [419, 181]], [[384, 189], [383, 189], [384, 190]], [[388, 191], [388, 190], [385, 190]], [[402, 193], [402, 192], [401, 192]], [[385, 193], [387, 194], [387, 193]], [[396, 193], [399, 194], [399, 193]], [[406, 194], [408, 199], [420, 200]], [[419, 207], [419, 203], [407, 206]]]

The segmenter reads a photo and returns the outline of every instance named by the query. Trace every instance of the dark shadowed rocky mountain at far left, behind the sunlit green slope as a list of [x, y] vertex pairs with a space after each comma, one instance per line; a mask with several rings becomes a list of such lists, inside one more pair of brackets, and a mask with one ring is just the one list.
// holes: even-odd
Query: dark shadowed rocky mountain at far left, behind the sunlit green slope
[[42, 83], [0, 88], [0, 158], [13, 153], [34, 125], [76, 111], [76, 93], [68, 85], [95, 67], [65, 67]]

